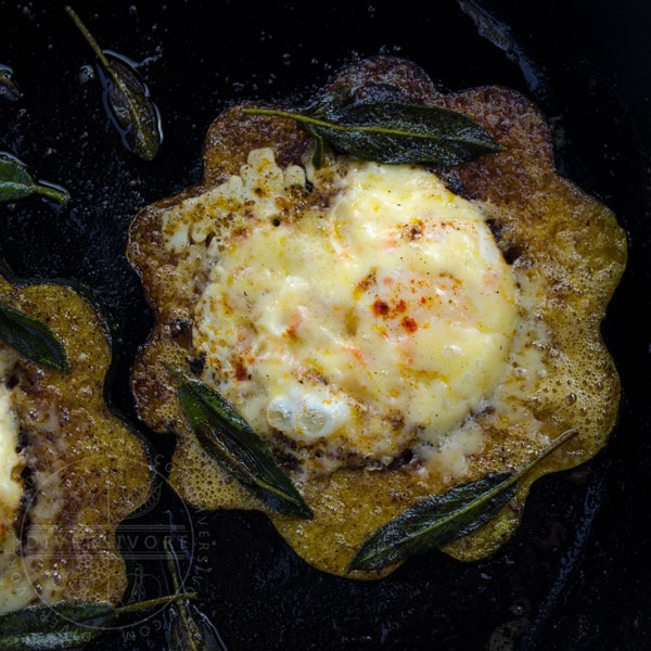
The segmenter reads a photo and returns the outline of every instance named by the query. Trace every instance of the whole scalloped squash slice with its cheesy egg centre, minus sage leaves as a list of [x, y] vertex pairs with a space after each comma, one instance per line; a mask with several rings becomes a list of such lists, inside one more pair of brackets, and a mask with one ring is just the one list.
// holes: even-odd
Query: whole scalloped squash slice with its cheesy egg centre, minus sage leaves
[[445, 95], [391, 58], [355, 64], [329, 90], [343, 86], [464, 113], [507, 150], [446, 182], [334, 153], [315, 169], [292, 120], [227, 111], [202, 183], [131, 226], [129, 259], [157, 318], [133, 371], [137, 407], [178, 435], [170, 478], [188, 501], [264, 510], [203, 451], [164, 365], [217, 388], [315, 511], [268, 511], [277, 528], [334, 574], [422, 499], [516, 470], [576, 427], [495, 520], [444, 549], [478, 559], [516, 528], [536, 477], [607, 441], [618, 380], [599, 324], [626, 241], [608, 208], [554, 173], [546, 123], [518, 93]]

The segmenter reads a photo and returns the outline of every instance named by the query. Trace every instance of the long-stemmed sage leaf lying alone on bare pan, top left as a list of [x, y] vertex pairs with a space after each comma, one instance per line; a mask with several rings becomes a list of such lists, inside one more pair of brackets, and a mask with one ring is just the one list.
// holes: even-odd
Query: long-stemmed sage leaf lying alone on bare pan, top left
[[158, 114], [149, 97], [146, 86], [138, 75], [115, 56], [108, 58], [100, 48], [81, 18], [69, 7], [65, 8], [84, 38], [106, 72], [104, 93], [106, 103], [128, 150], [144, 161], [153, 161], [162, 142]]

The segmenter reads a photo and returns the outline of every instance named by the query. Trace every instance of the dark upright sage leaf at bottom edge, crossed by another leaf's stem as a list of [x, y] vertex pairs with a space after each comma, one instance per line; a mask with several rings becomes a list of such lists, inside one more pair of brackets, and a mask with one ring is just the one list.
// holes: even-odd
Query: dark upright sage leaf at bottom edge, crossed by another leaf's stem
[[[179, 563], [169, 538], [165, 538], [165, 553], [174, 589], [180, 592], [182, 583]], [[179, 600], [170, 607], [168, 621], [165, 635], [169, 651], [228, 651], [210, 621], [186, 600]]]

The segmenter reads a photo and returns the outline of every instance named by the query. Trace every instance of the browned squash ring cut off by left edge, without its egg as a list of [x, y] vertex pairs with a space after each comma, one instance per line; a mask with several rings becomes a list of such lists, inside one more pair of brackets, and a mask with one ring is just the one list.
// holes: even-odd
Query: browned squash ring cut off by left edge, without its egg
[[11, 589], [22, 595], [15, 605], [118, 603], [127, 574], [116, 527], [148, 499], [153, 469], [143, 439], [104, 399], [112, 334], [99, 311], [65, 284], [0, 276], [0, 301], [47, 323], [72, 366], [63, 373], [16, 354], [5, 379], [23, 461], [15, 470], [24, 494], [13, 523], [20, 552], [5, 567], [15, 575]]

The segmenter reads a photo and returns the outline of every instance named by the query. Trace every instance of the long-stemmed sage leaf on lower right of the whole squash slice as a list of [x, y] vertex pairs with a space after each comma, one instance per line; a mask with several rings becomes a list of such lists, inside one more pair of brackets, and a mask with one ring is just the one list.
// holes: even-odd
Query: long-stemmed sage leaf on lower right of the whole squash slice
[[575, 434], [576, 430], [567, 430], [518, 472], [486, 475], [405, 511], [361, 545], [346, 572], [381, 570], [410, 556], [437, 549], [480, 528], [513, 498], [518, 482], [536, 463]]

